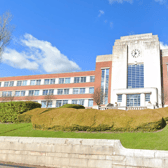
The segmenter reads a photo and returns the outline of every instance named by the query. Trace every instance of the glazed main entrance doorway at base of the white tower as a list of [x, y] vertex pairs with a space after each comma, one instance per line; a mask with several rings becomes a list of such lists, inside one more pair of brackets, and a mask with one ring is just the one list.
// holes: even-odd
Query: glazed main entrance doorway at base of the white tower
[[140, 106], [140, 94], [128, 94], [127, 95], [127, 106]]

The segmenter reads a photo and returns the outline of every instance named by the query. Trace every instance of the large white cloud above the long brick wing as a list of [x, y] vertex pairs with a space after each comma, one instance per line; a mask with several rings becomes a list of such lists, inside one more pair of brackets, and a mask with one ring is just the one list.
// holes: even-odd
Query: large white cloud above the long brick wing
[[2, 62], [12, 67], [29, 70], [43, 70], [47, 73], [58, 73], [80, 70], [80, 67], [63, 55], [48, 41], [38, 40], [30, 34], [21, 39], [28, 50], [16, 51], [7, 48], [2, 55]]

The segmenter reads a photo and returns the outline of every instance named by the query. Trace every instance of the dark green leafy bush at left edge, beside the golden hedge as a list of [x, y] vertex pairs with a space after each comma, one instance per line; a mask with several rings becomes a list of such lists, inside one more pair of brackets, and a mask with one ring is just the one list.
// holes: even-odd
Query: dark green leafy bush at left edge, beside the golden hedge
[[0, 103], [0, 122], [19, 122], [18, 116], [28, 110], [41, 108], [41, 104], [31, 101]]

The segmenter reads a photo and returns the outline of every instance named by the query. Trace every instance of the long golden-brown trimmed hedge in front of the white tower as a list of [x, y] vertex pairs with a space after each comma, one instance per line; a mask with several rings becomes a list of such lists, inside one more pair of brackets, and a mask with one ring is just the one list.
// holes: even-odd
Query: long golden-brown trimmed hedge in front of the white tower
[[[156, 110], [95, 110], [57, 108], [34, 114], [33, 127], [54, 131], [156, 131], [166, 122]], [[29, 115], [28, 112], [25, 115]]]

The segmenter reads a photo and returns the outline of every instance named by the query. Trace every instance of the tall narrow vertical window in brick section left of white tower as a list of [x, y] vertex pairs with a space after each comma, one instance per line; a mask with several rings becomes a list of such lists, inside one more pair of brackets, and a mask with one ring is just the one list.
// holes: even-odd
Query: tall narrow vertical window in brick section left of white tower
[[101, 96], [101, 104], [108, 103], [108, 85], [109, 85], [109, 69], [102, 69], [101, 74], [101, 91], [103, 95]]

